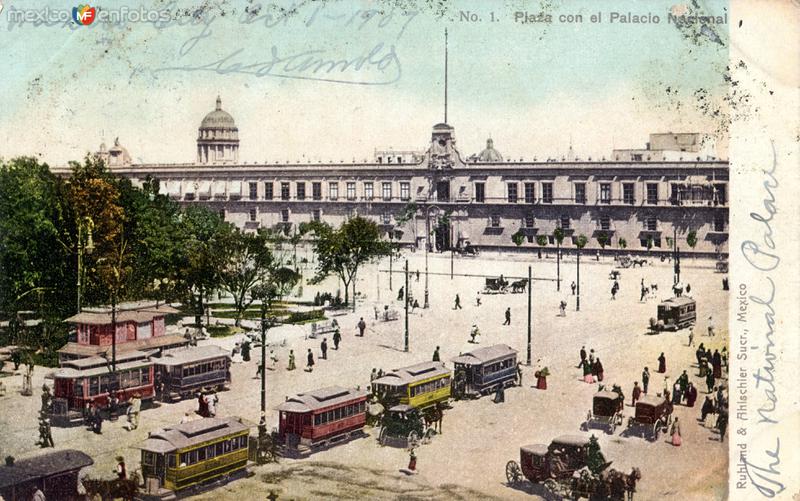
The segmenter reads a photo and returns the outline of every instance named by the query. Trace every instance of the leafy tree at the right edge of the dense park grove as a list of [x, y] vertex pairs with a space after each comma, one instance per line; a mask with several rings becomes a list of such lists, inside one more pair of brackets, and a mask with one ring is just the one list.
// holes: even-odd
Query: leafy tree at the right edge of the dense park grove
[[245, 233], [238, 229], [227, 232], [222, 239], [220, 287], [233, 296], [236, 326], [255, 297], [250, 290], [269, 277], [273, 266], [272, 251], [263, 233]]

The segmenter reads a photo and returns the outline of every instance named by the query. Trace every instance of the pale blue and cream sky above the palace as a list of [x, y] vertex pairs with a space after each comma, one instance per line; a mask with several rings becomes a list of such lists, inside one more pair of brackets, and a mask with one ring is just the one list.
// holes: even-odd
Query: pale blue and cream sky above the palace
[[[3, 158], [63, 165], [119, 137], [135, 162], [192, 162], [217, 95], [246, 162], [422, 150], [444, 120], [445, 29], [447, 121], [464, 156], [491, 137], [506, 158], [560, 157], [570, 144], [600, 158], [667, 131], [718, 133], [726, 156], [701, 104], [724, 110], [728, 26], [668, 20], [722, 16], [726, 1], [123, 1], [90, 4], [89, 25], [71, 19], [75, 3], [0, 2]], [[539, 14], [552, 21], [518, 22]]]

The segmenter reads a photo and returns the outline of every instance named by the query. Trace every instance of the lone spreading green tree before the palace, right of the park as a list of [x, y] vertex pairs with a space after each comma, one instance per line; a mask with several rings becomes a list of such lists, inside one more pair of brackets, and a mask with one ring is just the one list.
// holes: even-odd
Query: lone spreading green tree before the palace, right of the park
[[354, 283], [361, 265], [386, 256], [390, 252], [389, 242], [381, 239], [380, 229], [374, 221], [354, 217], [334, 229], [327, 223], [313, 222], [314, 252], [317, 254], [317, 273], [312, 279], [319, 283], [335, 274], [344, 283], [344, 301], [349, 304], [348, 291]]

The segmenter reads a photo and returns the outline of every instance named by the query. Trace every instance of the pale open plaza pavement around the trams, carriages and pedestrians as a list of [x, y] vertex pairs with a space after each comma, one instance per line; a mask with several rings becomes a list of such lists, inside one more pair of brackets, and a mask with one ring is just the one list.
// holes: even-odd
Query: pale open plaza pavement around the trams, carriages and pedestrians
[[[424, 260], [423, 253], [409, 254], [409, 269], [412, 274], [420, 270], [420, 279], [410, 277], [410, 289], [415, 298], [423, 303]], [[487, 274], [505, 277], [527, 275], [527, 266], [533, 266], [534, 277], [555, 278], [554, 259], [527, 256], [504, 257], [482, 255], [479, 258], [456, 258], [455, 273]], [[639, 499], [705, 500], [724, 499], [727, 492], [727, 438], [720, 444], [716, 432], [707, 430], [696, 419], [705, 397], [705, 382], [696, 377], [694, 363], [695, 348], [688, 348], [688, 330], [678, 333], [665, 332], [646, 335], [648, 319], [656, 315], [657, 299], [639, 302], [639, 283], [657, 283], [658, 298], [671, 295], [672, 266], [656, 262], [644, 268], [622, 270], [620, 291], [615, 301], [611, 300], [612, 281], [608, 273], [613, 268], [611, 258], [595, 261], [594, 256], [581, 259], [581, 311], [575, 311], [575, 297], [569, 284], [575, 279], [574, 258], [562, 262], [561, 292], [556, 292], [555, 283], [536, 282], [533, 289], [533, 367], [524, 368], [521, 388], [506, 392], [506, 402], [494, 404], [491, 398], [477, 401], [454, 402], [446, 411], [443, 434], [436, 436], [430, 444], [417, 450], [419, 475], [405, 477], [399, 472], [406, 466], [408, 453], [402, 449], [380, 447], [375, 437], [377, 430], [369, 430], [369, 438], [359, 439], [329, 450], [322, 451], [304, 460], [282, 460], [278, 465], [251, 467], [255, 475], [232, 482], [223, 487], [200, 494], [199, 499], [263, 499], [270, 489], [294, 499], [319, 499], [329, 497], [331, 492], [340, 492], [342, 497], [394, 499], [401, 495], [421, 496], [434, 499], [496, 497], [499, 499], [536, 499], [531, 494], [541, 494], [529, 483], [520, 488], [506, 485], [505, 465], [519, 460], [519, 447], [531, 443], [549, 444], [560, 434], [580, 434], [587, 410], [591, 407], [592, 394], [597, 385], [588, 385], [576, 369], [578, 351], [582, 345], [587, 351], [594, 348], [605, 368], [605, 382], [622, 385], [626, 395], [625, 414], [633, 414], [630, 394], [633, 381], [640, 381], [644, 366], [651, 371], [650, 393], [655, 394], [663, 386], [663, 376], [655, 372], [657, 357], [662, 351], [667, 358], [667, 375], [674, 382], [682, 370], [687, 369], [691, 380], [698, 387], [699, 397], [694, 408], [676, 407], [674, 416], [680, 418], [683, 445], [673, 447], [662, 435], [658, 442], [651, 443], [636, 436], [624, 437], [624, 425], [614, 435], [594, 428], [607, 460], [613, 467], [630, 470], [639, 467], [642, 480], [638, 485]], [[697, 325], [695, 343], [704, 342], [707, 348], [721, 349], [727, 343], [728, 292], [722, 291], [722, 275], [713, 270], [713, 262], [693, 261], [684, 258], [682, 281], [691, 284], [691, 296], [697, 299]], [[342, 326], [342, 343], [337, 352], [331, 348], [328, 360], [319, 359], [320, 339], [304, 339], [296, 327], [277, 327], [268, 334], [268, 342], [286, 339], [286, 346], [274, 348], [280, 363], [277, 370], [267, 373], [268, 413], [270, 427], [277, 426], [277, 411], [287, 395], [315, 388], [342, 385], [360, 386], [369, 384], [371, 369], [389, 370], [430, 360], [435, 347], [441, 346], [442, 360], [461, 352], [495, 343], [506, 343], [519, 350], [519, 359], [525, 361], [526, 353], [526, 305], [527, 294], [481, 295], [482, 305], [475, 305], [476, 293], [483, 289], [483, 278], [430, 276], [430, 304], [428, 310], [418, 309], [410, 317], [410, 352], [403, 352], [403, 318], [394, 322], [375, 322], [373, 305], [401, 309], [396, 301], [397, 289], [402, 283], [398, 271], [402, 260], [394, 264], [393, 291], [388, 290], [386, 273], [377, 274], [377, 265], [367, 266], [359, 277], [358, 289], [366, 295], [356, 314], [352, 312], [338, 317]], [[388, 262], [380, 264], [388, 268]], [[431, 272], [449, 273], [449, 254], [431, 254]], [[304, 286], [304, 296], [313, 297], [317, 290], [333, 291], [337, 281], [328, 279], [322, 284]], [[461, 297], [462, 310], [453, 310], [455, 294]], [[380, 299], [378, 299], [380, 294]], [[558, 316], [561, 299], [568, 302], [566, 317]], [[511, 326], [502, 326], [503, 312], [510, 306]], [[707, 318], [714, 316], [717, 336], [705, 336]], [[356, 323], [363, 316], [368, 323], [364, 338], [354, 337]], [[479, 345], [467, 342], [472, 324], [481, 331]], [[232, 347], [237, 337], [213, 339], [213, 342]], [[311, 373], [303, 371], [305, 353], [312, 348], [317, 365]], [[298, 370], [285, 370], [289, 349], [297, 356]], [[259, 419], [259, 380], [255, 379], [259, 350], [253, 351], [249, 363], [235, 363], [232, 367], [233, 384], [229, 392], [220, 394], [218, 414], [237, 415], [254, 426]], [[533, 370], [537, 361], [550, 369], [548, 389], [532, 388]], [[37, 433], [36, 415], [40, 405], [39, 395], [45, 373], [37, 367], [34, 373], [33, 397], [22, 397], [18, 393], [21, 376], [6, 378], [9, 395], [0, 398], [0, 455], [17, 457], [35, 454]], [[641, 381], [640, 381], [641, 384]], [[165, 404], [143, 411], [138, 430], [123, 429], [123, 421], [105, 422], [102, 435], [85, 431], [82, 427], [53, 429], [57, 448], [77, 448], [86, 451], [95, 459], [91, 474], [111, 476], [114, 457], [126, 457], [129, 470], [138, 467], [139, 451], [135, 449], [147, 436], [147, 432], [161, 426], [177, 423], [186, 411], [194, 411], [196, 401]], [[322, 463], [322, 464], [320, 464]], [[314, 482], [315, 472], [318, 482]], [[338, 473], [337, 473], [338, 472]], [[368, 479], [355, 483], [353, 479]], [[274, 481], [275, 484], [267, 483]], [[324, 488], [323, 488], [324, 486]], [[322, 490], [320, 490], [322, 489]], [[327, 494], [326, 494], [327, 493]], [[403, 494], [405, 493], [405, 494]]]

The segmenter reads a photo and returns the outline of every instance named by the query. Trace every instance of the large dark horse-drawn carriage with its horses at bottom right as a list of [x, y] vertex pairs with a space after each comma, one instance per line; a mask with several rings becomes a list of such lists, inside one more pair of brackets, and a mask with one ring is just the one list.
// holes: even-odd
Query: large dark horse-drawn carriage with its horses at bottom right
[[[563, 435], [549, 446], [536, 444], [520, 447], [520, 462], [506, 464], [506, 480], [511, 486], [523, 478], [545, 489], [559, 499], [608, 500], [632, 497], [636, 481], [641, 478], [637, 468], [629, 475], [614, 469], [608, 470], [594, 437]], [[630, 499], [630, 498], [629, 498]]]

